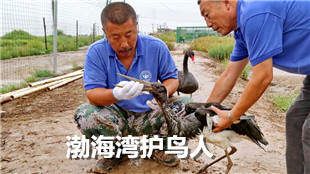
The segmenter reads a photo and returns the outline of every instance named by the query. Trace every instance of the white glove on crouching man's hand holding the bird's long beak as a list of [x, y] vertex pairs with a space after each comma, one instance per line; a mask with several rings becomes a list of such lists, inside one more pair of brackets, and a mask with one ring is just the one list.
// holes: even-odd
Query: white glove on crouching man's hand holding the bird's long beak
[[115, 87], [112, 91], [113, 96], [117, 100], [131, 100], [141, 94], [146, 94], [142, 91], [143, 84], [134, 81], [121, 81], [117, 84], [122, 87]]

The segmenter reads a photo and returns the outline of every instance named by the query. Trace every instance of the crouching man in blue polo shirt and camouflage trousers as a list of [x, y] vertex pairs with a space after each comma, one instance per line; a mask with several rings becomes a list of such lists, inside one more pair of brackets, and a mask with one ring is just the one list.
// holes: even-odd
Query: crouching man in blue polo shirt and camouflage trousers
[[[159, 80], [172, 95], [179, 81], [167, 46], [159, 39], [137, 34], [136, 13], [124, 2], [106, 6], [101, 21], [106, 39], [95, 42], [87, 50], [84, 87], [90, 104], [77, 109], [74, 119], [78, 128], [87, 138], [167, 135], [167, 125], [161, 110], [156, 109], [153, 96], [143, 93], [142, 84], [117, 75], [149, 82]], [[123, 87], [115, 87], [116, 84]], [[183, 112], [180, 101], [174, 104], [176, 113]], [[167, 166], [179, 163], [174, 155], [163, 151], [156, 151], [152, 158]], [[120, 162], [121, 158], [115, 157], [101, 159], [92, 170], [104, 173]]]

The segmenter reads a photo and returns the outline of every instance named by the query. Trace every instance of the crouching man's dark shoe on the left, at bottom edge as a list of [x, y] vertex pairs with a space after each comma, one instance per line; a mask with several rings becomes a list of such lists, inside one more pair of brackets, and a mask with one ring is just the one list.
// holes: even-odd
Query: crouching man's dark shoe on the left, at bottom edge
[[94, 173], [109, 173], [122, 162], [122, 158], [102, 158], [91, 169]]

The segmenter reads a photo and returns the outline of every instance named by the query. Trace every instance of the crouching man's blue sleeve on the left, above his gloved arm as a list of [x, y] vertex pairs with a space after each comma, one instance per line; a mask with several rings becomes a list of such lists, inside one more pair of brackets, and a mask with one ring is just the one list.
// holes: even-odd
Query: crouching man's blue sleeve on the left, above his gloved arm
[[84, 88], [85, 91], [94, 88], [107, 87], [106, 67], [101, 61], [101, 56], [94, 48], [91, 48], [85, 58], [84, 65]]

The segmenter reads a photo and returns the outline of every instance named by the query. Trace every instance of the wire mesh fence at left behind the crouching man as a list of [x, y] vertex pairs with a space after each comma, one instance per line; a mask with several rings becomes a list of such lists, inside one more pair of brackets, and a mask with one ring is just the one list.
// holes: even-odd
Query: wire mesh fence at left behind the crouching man
[[[52, 0], [0, 2], [1, 89], [5, 86], [24, 85], [33, 80], [38, 72], [52, 72], [52, 2]], [[78, 50], [101, 39], [103, 32], [100, 13], [105, 5], [106, 1], [102, 0], [58, 1], [58, 52]]]

